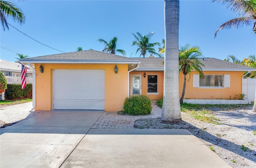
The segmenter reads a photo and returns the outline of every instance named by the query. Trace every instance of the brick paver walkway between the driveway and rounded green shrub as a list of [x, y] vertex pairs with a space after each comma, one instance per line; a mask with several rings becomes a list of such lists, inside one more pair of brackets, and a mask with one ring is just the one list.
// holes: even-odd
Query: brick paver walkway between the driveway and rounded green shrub
[[129, 128], [133, 129], [134, 121], [142, 118], [161, 117], [162, 109], [152, 102], [152, 111], [149, 115], [118, 115], [117, 112], [104, 112], [94, 123], [92, 128]]

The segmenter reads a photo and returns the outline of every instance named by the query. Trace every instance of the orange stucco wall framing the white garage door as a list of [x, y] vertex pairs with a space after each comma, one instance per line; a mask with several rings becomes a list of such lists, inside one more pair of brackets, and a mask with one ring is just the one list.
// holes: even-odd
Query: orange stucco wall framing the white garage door
[[[115, 65], [118, 73], [114, 73]], [[128, 90], [127, 64], [42, 64], [44, 73], [36, 69], [36, 108], [35, 110], [52, 110], [52, 70], [53, 69], [104, 69], [105, 70], [105, 111], [122, 110]]]

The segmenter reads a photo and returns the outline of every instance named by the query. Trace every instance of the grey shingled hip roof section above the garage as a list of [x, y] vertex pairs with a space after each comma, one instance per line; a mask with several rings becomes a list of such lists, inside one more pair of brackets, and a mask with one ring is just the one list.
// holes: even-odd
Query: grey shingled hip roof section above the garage
[[105, 61], [105, 62], [111, 62], [111, 61], [123, 61], [123, 62], [138, 62], [138, 60], [110, 54], [110, 53], [104, 53], [101, 51], [95, 51], [95, 50], [85, 50], [85, 51], [76, 51], [76, 52], [70, 52], [70, 53], [62, 53], [62, 54], [54, 54], [54, 55], [46, 55], [46, 56], [40, 56], [40, 57], [31, 57], [26, 59], [20, 59], [20, 62], [34, 62], [34, 63], [40, 63], [42, 61], [44, 62], [56, 62], [56, 61], [79, 61], [79, 62], [90, 62], [90, 61]]

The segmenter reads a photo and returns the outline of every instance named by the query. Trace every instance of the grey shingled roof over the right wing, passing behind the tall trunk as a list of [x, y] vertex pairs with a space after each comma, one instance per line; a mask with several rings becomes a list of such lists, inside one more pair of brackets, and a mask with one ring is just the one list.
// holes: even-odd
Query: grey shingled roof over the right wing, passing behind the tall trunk
[[[164, 58], [136, 58], [141, 63], [136, 71], [153, 71], [153, 70], [164, 70], [162, 62]], [[216, 59], [216, 58], [199, 58], [199, 60], [204, 64], [202, 70], [204, 71], [256, 71], [256, 68], [231, 63], [228, 61]]]

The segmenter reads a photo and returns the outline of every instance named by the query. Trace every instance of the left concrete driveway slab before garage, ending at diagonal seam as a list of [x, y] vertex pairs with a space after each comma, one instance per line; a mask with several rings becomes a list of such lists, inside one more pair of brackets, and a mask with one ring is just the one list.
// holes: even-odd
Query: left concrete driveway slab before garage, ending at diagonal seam
[[58, 168], [104, 111], [49, 111], [1, 129], [0, 167]]

